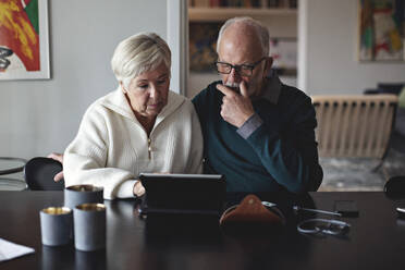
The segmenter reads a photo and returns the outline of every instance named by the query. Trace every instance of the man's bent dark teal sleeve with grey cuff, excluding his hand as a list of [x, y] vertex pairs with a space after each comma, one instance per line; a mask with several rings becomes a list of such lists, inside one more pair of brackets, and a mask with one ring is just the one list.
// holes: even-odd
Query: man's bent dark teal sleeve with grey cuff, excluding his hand
[[[240, 135], [253, 147], [266, 170], [293, 193], [317, 191], [323, 176], [315, 140], [317, 122], [314, 107], [309, 98], [297, 106], [285, 131], [275, 132], [257, 114], [246, 122], [254, 123], [250, 127], [243, 125], [238, 128]], [[244, 128], [250, 130], [250, 134], [242, 134]]]

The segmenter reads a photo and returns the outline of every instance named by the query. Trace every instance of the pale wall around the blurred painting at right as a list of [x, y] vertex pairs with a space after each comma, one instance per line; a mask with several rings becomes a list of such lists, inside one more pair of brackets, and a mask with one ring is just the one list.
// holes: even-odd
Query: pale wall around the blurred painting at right
[[298, 88], [309, 95], [361, 94], [378, 82], [405, 82], [405, 63], [357, 61], [357, 4], [299, 0]]

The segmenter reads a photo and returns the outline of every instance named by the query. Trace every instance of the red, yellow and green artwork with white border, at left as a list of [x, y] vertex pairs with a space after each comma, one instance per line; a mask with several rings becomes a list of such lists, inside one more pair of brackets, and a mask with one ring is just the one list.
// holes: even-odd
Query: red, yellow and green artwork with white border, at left
[[50, 78], [47, 0], [0, 0], [0, 79]]

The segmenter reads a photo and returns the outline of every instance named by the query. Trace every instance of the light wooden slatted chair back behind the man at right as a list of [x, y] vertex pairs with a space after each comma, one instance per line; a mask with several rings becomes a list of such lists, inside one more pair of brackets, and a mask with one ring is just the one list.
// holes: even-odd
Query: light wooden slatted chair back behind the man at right
[[394, 95], [312, 96], [320, 157], [383, 158], [395, 120]]

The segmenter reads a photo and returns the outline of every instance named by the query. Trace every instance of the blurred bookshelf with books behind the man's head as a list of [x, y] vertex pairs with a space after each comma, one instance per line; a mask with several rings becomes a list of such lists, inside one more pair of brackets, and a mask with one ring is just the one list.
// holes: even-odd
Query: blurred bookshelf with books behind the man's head
[[[235, 16], [250, 16], [260, 21], [279, 45], [295, 42], [297, 37], [297, 0], [189, 0], [189, 76], [187, 96], [193, 97], [210, 82], [218, 79], [212, 69], [217, 59], [216, 41], [220, 26]], [[294, 45], [293, 45], [294, 46]], [[284, 48], [284, 47], [283, 47]], [[283, 52], [283, 48], [280, 47]], [[270, 52], [275, 46], [271, 45]], [[296, 56], [296, 54], [295, 54]], [[274, 61], [274, 63], [277, 63]], [[296, 85], [296, 68], [291, 73], [290, 66], [279, 61], [283, 73], [281, 79], [290, 85]]]

